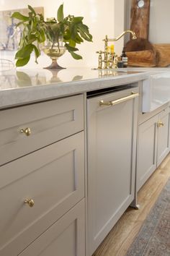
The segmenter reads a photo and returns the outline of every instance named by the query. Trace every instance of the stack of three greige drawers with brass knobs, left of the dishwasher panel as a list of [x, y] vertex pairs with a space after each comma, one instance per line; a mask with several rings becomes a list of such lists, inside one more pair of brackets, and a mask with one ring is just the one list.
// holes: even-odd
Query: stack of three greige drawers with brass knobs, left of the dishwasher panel
[[84, 97], [33, 105], [0, 111], [0, 255], [81, 256]]

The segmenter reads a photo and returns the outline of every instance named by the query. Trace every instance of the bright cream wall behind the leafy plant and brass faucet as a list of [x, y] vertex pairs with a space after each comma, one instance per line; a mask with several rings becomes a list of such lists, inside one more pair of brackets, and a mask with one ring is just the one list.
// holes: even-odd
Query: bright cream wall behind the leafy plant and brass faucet
[[[83, 60], [76, 61], [70, 54], [64, 54], [58, 61], [63, 67], [97, 67], [98, 56], [96, 51], [104, 49], [102, 39], [105, 35], [113, 38], [122, 33], [124, 27], [124, 1], [125, 0], [0, 0], [0, 11], [6, 9], [26, 8], [27, 4], [32, 7], [44, 7], [45, 17], [56, 17], [60, 4], [64, 4], [64, 14], [74, 14], [83, 16], [84, 23], [89, 26], [93, 35], [93, 43], [84, 42], [79, 46], [79, 54]], [[123, 8], [123, 9], [122, 9]], [[120, 15], [119, 15], [120, 14]], [[0, 27], [1, 29], [1, 27]], [[115, 43], [117, 53], [122, 51], [122, 41]], [[14, 59], [13, 51], [0, 51], [0, 58]], [[26, 68], [45, 67], [50, 64], [50, 59], [42, 54], [38, 59], [39, 64], [35, 64], [34, 58]]]

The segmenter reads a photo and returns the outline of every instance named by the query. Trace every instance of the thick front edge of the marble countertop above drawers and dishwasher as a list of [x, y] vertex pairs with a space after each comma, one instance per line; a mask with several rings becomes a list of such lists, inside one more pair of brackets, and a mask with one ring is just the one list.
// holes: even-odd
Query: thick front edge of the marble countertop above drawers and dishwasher
[[146, 80], [149, 72], [0, 91], [0, 109]]

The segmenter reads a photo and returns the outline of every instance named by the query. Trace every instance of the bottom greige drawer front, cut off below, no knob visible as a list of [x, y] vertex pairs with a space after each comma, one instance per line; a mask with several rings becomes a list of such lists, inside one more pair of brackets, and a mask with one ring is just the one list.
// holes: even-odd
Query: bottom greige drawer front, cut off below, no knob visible
[[82, 200], [19, 256], [84, 256], [84, 210]]

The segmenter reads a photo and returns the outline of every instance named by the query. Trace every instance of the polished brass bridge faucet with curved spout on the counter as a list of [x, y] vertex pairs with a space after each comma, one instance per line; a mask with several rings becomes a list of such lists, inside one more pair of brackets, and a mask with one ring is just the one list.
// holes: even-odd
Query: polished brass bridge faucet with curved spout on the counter
[[[132, 39], [135, 40], [137, 37], [135, 35], [135, 32], [132, 30], [125, 30], [117, 36], [117, 38], [107, 38], [107, 35], [105, 36], [104, 40], [104, 51], [97, 51], [97, 54], [99, 54], [99, 66], [97, 69], [103, 69], [102, 68], [102, 62], [104, 62], [104, 69], [117, 69], [117, 56], [112, 56], [108, 53], [108, 42], [114, 42], [122, 38], [123, 35], [126, 33], [132, 34]], [[104, 54], [104, 59], [102, 59], [102, 54]]]

